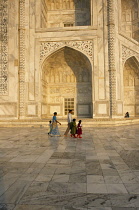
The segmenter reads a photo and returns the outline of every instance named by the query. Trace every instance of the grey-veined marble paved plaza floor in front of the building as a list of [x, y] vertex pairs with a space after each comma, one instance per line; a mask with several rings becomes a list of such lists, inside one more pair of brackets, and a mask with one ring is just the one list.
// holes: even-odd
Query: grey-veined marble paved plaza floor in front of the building
[[0, 128], [0, 210], [139, 210], [139, 125], [83, 132]]

